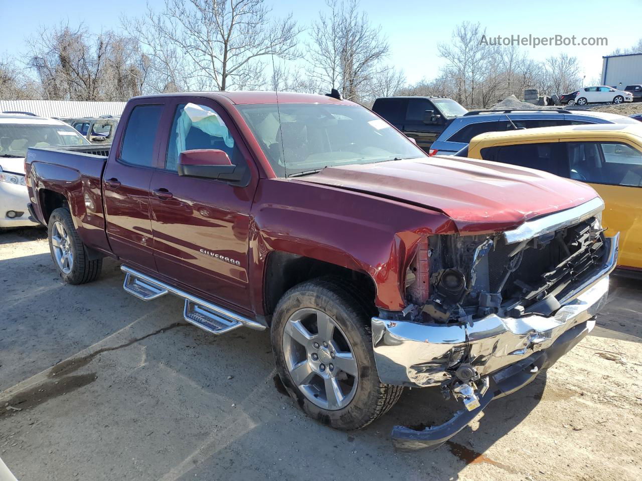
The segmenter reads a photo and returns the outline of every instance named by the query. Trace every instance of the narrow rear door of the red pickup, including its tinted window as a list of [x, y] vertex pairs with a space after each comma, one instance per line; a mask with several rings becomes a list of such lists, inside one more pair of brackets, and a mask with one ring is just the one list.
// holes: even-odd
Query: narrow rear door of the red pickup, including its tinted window
[[150, 181], [158, 157], [164, 104], [138, 101], [103, 173], [107, 238], [114, 254], [132, 266], [156, 271], [152, 254]]

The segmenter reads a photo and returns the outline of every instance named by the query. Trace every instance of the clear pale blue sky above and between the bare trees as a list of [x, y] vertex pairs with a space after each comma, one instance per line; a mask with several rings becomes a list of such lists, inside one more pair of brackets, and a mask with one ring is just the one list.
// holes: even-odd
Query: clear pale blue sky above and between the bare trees
[[[162, 6], [163, 0], [150, 0]], [[323, 1], [266, 0], [273, 4], [277, 16], [292, 12], [302, 25], [309, 24], [324, 7]], [[602, 56], [620, 47], [636, 44], [642, 30], [629, 19], [642, 18], [642, 1], [618, 0], [540, 0], [527, 10], [519, 0], [433, 1], [433, 0], [361, 0], [361, 7], [390, 43], [388, 63], [403, 69], [410, 82], [433, 78], [443, 60], [437, 56], [438, 42], [447, 42], [456, 24], [480, 22], [490, 36], [534, 35], [549, 37], [576, 35], [607, 37], [606, 47], [523, 47], [532, 58], [543, 60], [564, 51], [577, 56], [587, 81], [600, 75]], [[26, 50], [24, 38], [40, 25], [68, 21], [71, 25], [85, 22], [90, 30], [115, 29], [121, 13], [141, 15], [145, 2], [139, 0], [0, 0], [3, 17], [0, 29], [0, 56], [20, 55]]]

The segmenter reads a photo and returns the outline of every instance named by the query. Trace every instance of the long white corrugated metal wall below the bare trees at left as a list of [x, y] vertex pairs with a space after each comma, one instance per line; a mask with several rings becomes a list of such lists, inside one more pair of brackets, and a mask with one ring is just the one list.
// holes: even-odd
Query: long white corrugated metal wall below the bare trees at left
[[100, 117], [123, 113], [126, 102], [84, 102], [70, 100], [0, 100], [0, 112], [31, 112], [41, 117]]

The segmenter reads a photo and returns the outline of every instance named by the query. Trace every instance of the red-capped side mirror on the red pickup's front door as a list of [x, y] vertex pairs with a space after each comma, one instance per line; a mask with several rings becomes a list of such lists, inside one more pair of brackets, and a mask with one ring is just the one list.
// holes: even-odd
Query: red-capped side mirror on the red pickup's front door
[[198, 149], [180, 153], [177, 171], [180, 176], [238, 182], [243, 178], [244, 169], [232, 164], [222, 150]]

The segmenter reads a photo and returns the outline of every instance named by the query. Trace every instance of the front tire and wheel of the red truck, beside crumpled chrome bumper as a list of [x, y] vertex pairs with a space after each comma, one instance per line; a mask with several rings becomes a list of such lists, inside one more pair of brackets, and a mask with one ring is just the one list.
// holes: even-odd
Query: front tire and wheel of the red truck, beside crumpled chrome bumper
[[[369, 425], [385, 414], [403, 392], [401, 386], [379, 382], [370, 333], [373, 308], [351, 283], [327, 277], [303, 282], [290, 289], [279, 301], [272, 317], [272, 350], [286, 391], [308, 416], [335, 429], [355, 430]], [[317, 351], [313, 347], [315, 339], [327, 339], [321, 333], [314, 333], [314, 325], [318, 331], [320, 319], [325, 316], [334, 323], [334, 333], [327, 343], [331, 358], [324, 352], [325, 344], [318, 343]], [[300, 321], [293, 321], [299, 317]], [[295, 323], [307, 326], [304, 332], [313, 335], [302, 338], [308, 347], [290, 334], [293, 331], [297, 336], [300, 334], [299, 330], [291, 327]], [[347, 344], [343, 344], [342, 339]], [[333, 351], [335, 348], [336, 352]], [[333, 360], [344, 365], [346, 350], [354, 360], [354, 366], [348, 371], [354, 371], [356, 376], [342, 371], [339, 365], [334, 366], [333, 373], [330, 372]], [[317, 360], [314, 360], [315, 356]], [[322, 362], [329, 364], [325, 366]], [[317, 366], [316, 371], [310, 367], [313, 364]], [[308, 371], [302, 376], [293, 375], [293, 366], [303, 366]], [[322, 366], [325, 366], [325, 371], [321, 371]], [[299, 379], [307, 376], [307, 381], [297, 383], [293, 376]], [[327, 379], [333, 376], [336, 376], [333, 386], [340, 385], [340, 394], [328, 396], [325, 386], [328, 385]], [[336, 392], [336, 388], [332, 391]], [[341, 396], [344, 396], [343, 401], [339, 400]], [[336, 402], [332, 403], [331, 398]]]

